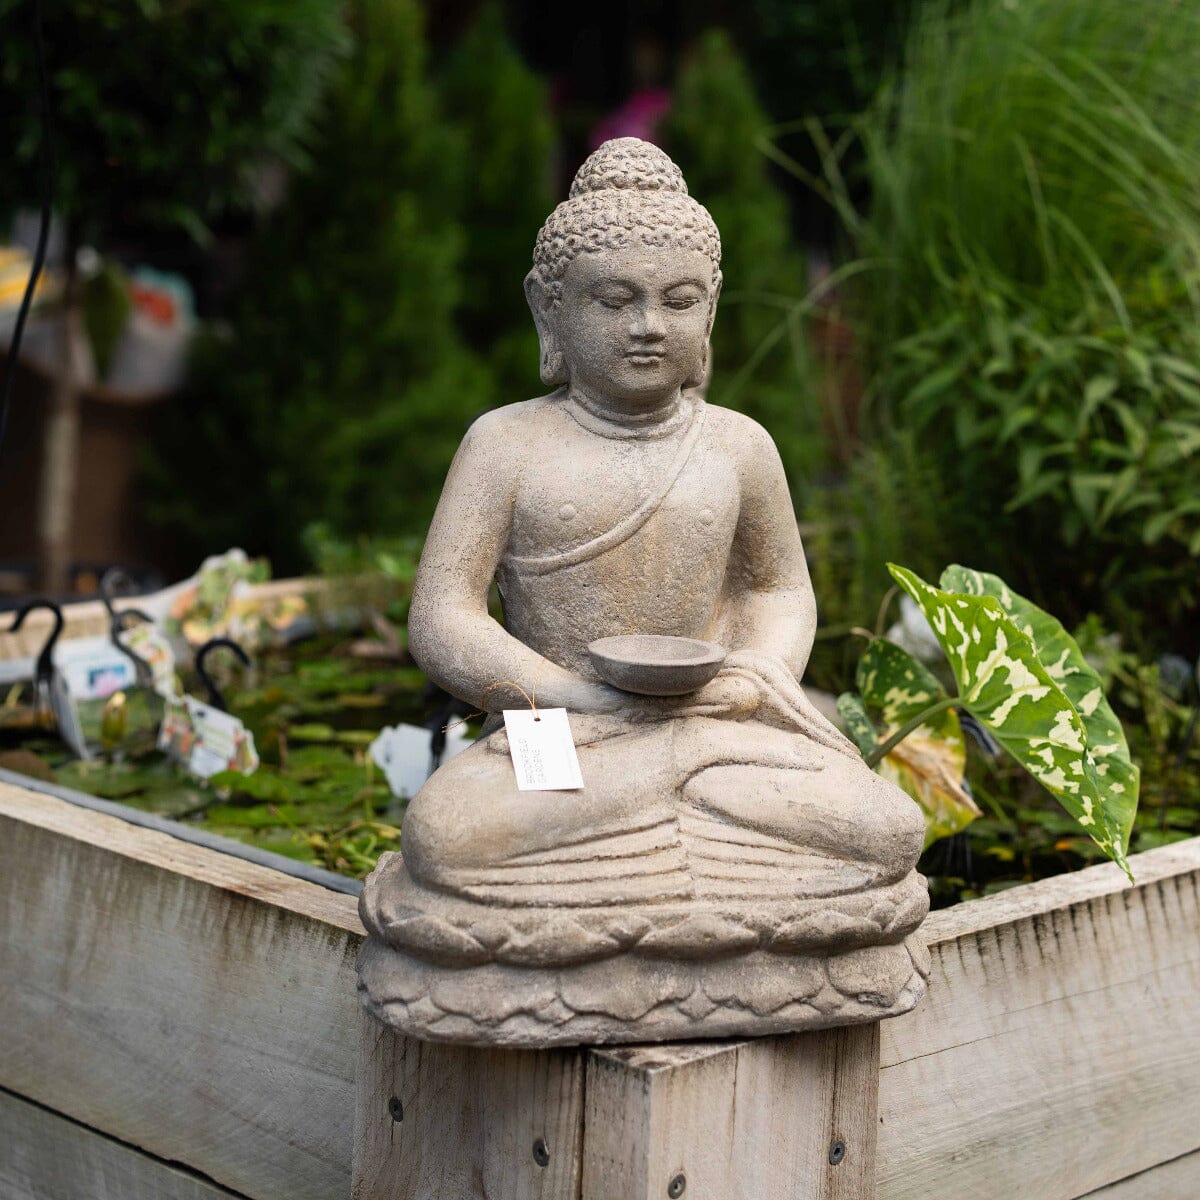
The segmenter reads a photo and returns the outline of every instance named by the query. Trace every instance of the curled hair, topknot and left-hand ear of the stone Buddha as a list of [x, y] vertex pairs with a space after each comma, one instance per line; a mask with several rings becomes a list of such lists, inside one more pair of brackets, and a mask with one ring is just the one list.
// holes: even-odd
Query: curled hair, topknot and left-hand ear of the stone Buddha
[[533, 250], [526, 295], [542, 343], [541, 377], [565, 383], [553, 322], [563, 276], [580, 254], [634, 242], [696, 250], [713, 264], [713, 299], [721, 281], [721, 236], [708, 209], [688, 194], [683, 172], [656, 145], [613, 138], [576, 172], [569, 198], [546, 218]]

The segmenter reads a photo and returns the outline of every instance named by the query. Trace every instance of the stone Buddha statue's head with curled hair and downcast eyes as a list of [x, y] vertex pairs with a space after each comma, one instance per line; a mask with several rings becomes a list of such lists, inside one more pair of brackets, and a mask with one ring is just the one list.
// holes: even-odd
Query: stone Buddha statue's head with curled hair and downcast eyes
[[698, 386], [720, 263], [716, 226], [671, 158], [638, 138], [606, 142], [534, 245], [526, 296], [542, 383], [632, 407]]

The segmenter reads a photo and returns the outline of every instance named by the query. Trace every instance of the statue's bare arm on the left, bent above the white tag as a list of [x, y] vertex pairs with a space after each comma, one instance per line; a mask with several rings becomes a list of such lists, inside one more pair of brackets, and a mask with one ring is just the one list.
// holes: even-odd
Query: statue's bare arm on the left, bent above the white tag
[[487, 593], [508, 545], [520, 443], [504, 409], [481, 416], [455, 455], [413, 587], [408, 646], [425, 673], [484, 712], [546, 708], [613, 712], [628, 696], [551, 662], [487, 611]]

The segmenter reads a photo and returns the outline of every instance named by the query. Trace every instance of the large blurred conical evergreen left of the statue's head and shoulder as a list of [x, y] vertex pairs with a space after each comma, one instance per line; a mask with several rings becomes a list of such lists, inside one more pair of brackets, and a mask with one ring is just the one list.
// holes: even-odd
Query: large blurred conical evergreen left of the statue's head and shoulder
[[299, 570], [314, 521], [424, 530], [494, 398], [456, 325], [467, 144], [428, 79], [420, 6], [355, 0], [350, 23], [311, 164], [156, 442], [155, 516], [193, 554], [241, 545]]

